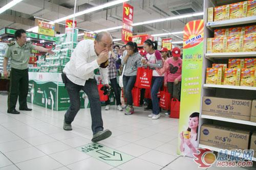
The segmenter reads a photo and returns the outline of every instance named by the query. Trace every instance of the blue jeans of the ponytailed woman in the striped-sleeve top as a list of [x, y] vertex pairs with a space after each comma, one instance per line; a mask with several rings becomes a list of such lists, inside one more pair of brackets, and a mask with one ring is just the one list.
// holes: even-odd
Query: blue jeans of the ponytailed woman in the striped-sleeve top
[[159, 100], [157, 98], [157, 93], [160, 90], [161, 86], [163, 85], [163, 76], [153, 76], [152, 78], [152, 85], [151, 85], [151, 99], [153, 104], [153, 114], [159, 114]]

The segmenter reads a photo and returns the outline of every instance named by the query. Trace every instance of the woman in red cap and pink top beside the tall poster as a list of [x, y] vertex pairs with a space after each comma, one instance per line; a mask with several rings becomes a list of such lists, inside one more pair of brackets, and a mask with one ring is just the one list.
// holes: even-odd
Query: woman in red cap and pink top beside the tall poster
[[[173, 48], [173, 57], [166, 60], [167, 71], [164, 74], [164, 86], [167, 86], [168, 92], [171, 94], [171, 99], [176, 98], [180, 101], [180, 89], [181, 89], [181, 68], [182, 59], [180, 58], [180, 48]], [[168, 110], [165, 115], [170, 114]]]

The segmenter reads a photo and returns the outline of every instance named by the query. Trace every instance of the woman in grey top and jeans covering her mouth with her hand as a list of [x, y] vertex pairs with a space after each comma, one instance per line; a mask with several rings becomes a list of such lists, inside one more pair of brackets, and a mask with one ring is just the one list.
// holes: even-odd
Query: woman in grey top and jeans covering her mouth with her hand
[[127, 42], [125, 48], [127, 53], [123, 56], [121, 63], [122, 65], [125, 64], [123, 70], [123, 88], [127, 99], [125, 115], [130, 115], [134, 113], [132, 89], [136, 81], [137, 69], [141, 66], [141, 55], [138, 53], [138, 47], [135, 42]]

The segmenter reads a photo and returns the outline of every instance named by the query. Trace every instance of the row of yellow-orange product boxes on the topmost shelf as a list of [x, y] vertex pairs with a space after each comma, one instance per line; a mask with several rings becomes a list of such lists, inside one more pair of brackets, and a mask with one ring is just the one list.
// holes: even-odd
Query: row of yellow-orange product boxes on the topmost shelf
[[208, 8], [208, 22], [255, 16], [256, 1], [249, 0]]

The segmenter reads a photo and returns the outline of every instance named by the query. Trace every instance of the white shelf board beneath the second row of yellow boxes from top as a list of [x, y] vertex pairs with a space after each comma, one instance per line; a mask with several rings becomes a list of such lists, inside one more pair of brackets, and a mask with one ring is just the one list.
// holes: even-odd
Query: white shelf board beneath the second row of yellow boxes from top
[[239, 52], [239, 53], [206, 53], [205, 58], [229, 58], [229, 57], [256, 57], [256, 52]]

